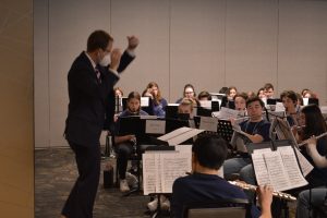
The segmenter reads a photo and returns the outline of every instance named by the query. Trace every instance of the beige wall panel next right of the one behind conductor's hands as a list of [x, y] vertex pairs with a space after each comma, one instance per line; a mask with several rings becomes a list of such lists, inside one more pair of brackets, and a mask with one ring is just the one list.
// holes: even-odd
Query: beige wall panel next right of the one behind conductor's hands
[[[204, 3], [205, 2], [205, 3]], [[225, 1], [171, 1], [171, 101], [186, 83], [196, 93], [217, 92], [223, 84]]]

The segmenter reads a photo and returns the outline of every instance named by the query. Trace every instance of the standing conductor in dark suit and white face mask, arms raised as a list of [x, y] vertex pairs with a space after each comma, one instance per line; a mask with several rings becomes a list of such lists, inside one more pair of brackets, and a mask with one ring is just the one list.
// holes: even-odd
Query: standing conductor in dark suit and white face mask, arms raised
[[[119, 73], [134, 59], [131, 52], [138, 45], [138, 39], [134, 36], [128, 37], [128, 40], [130, 52], [122, 55], [120, 49], [112, 49], [113, 38], [108, 33], [93, 32], [87, 39], [86, 51], [74, 60], [69, 71], [70, 102], [64, 136], [75, 154], [78, 178], [61, 217], [93, 217], [100, 178], [99, 137], [105, 124], [105, 113], [107, 118], [113, 119], [113, 86], [119, 80]], [[112, 96], [110, 100], [109, 96]], [[107, 122], [108, 126], [110, 124], [110, 121]]]

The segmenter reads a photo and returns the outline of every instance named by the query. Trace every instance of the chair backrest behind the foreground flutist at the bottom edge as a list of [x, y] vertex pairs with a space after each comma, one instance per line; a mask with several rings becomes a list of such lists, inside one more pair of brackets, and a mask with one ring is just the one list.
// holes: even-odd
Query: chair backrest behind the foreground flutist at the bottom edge
[[245, 218], [250, 214], [251, 204], [247, 199], [240, 198], [193, 202], [183, 208], [183, 218]]

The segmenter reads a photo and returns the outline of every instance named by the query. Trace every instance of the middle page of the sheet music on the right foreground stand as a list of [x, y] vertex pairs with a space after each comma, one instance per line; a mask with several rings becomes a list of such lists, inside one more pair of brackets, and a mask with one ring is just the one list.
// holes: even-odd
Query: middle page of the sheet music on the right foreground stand
[[269, 173], [270, 184], [276, 191], [290, 190], [291, 184], [287, 171], [283, 167], [281, 155], [279, 152], [263, 154], [267, 170]]

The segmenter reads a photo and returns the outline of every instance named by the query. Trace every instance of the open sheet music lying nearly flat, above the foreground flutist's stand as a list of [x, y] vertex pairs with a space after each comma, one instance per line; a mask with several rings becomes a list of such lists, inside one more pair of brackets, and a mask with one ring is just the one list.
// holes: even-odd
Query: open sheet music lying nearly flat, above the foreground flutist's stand
[[169, 145], [179, 145], [186, 140], [204, 132], [204, 130], [192, 129], [192, 128], [180, 128], [166, 135], [158, 137], [158, 140], [168, 142]]

